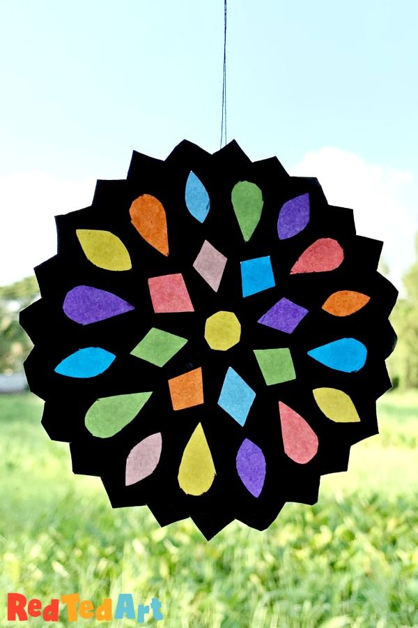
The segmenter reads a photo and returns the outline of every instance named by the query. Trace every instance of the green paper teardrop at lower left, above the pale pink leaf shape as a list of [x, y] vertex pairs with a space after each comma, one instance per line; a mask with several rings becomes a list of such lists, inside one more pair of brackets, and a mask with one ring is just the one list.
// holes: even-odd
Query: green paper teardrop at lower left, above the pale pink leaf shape
[[98, 438], [109, 438], [120, 432], [138, 414], [152, 392], [103, 397], [87, 410], [86, 428]]

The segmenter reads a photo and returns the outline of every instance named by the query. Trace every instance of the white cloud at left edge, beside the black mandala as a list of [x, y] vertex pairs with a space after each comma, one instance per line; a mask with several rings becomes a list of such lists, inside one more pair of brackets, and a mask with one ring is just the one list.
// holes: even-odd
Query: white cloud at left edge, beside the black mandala
[[68, 181], [47, 172], [0, 177], [0, 285], [33, 274], [56, 253], [54, 216], [88, 207], [94, 179]]

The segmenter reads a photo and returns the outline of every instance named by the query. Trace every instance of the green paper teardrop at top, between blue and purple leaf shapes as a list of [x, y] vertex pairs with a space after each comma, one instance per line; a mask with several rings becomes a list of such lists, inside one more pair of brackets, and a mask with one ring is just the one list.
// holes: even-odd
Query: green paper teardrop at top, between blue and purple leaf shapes
[[248, 242], [258, 225], [263, 210], [261, 189], [251, 181], [238, 181], [238, 184], [233, 186], [231, 200], [242, 236]]

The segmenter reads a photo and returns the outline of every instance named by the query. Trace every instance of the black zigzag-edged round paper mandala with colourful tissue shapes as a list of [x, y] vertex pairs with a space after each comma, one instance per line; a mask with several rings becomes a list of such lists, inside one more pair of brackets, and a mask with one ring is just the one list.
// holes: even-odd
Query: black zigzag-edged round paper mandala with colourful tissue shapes
[[26, 375], [114, 507], [262, 530], [377, 433], [396, 290], [316, 179], [182, 142], [56, 222]]

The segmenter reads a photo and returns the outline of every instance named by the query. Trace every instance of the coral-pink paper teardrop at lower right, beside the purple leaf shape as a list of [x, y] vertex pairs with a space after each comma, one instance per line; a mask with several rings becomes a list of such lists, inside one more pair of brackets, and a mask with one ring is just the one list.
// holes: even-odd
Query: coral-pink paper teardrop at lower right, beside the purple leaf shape
[[281, 401], [279, 413], [284, 451], [293, 461], [304, 465], [318, 451], [318, 436], [300, 414]]

